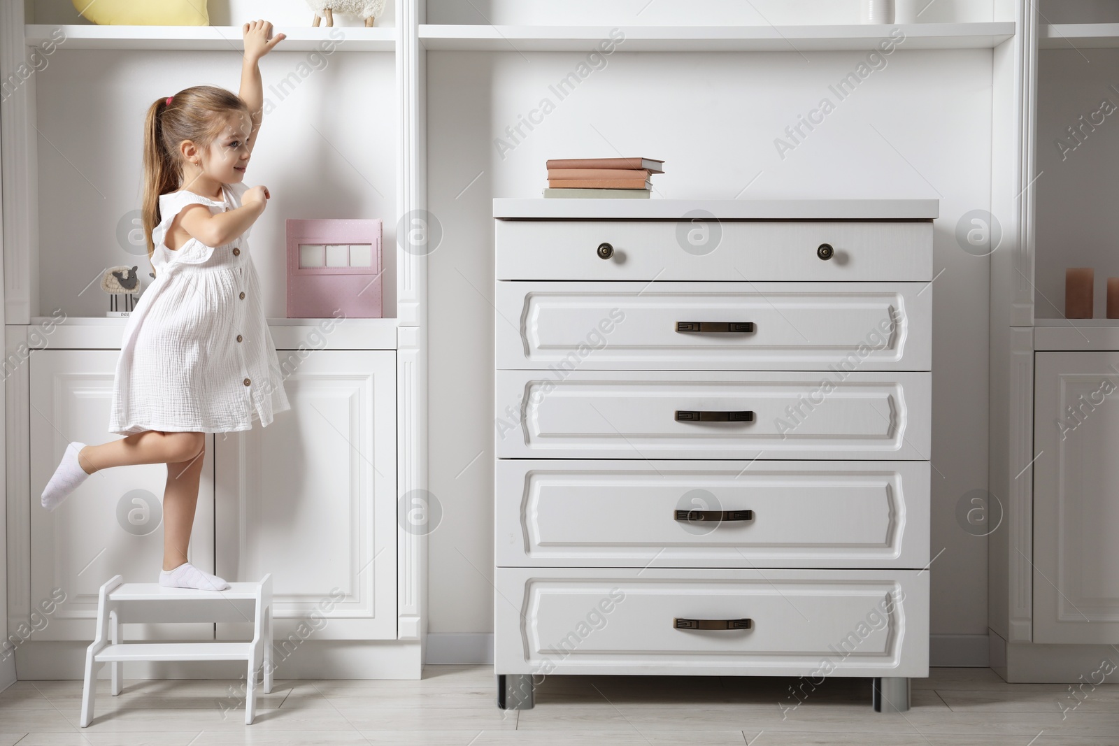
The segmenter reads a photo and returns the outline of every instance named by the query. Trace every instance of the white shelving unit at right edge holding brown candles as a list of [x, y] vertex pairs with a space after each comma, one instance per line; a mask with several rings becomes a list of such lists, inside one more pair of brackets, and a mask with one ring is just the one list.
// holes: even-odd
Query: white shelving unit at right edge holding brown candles
[[[1107, 537], [1119, 530], [1119, 403], [1107, 386], [1119, 383], [1119, 321], [1101, 318], [1106, 278], [1119, 276], [1119, 89], [1109, 74], [1119, 7], [1022, 10], [1004, 66], [1013, 85], [1003, 121], [1018, 123], [1004, 163], [1017, 190], [996, 213], [1009, 240], [991, 255], [991, 661], [1007, 681], [1073, 682], [1119, 640], [1119, 594], [1100, 582], [1116, 561]], [[1096, 271], [1096, 318], [1065, 319], [1064, 272], [1084, 266]]]

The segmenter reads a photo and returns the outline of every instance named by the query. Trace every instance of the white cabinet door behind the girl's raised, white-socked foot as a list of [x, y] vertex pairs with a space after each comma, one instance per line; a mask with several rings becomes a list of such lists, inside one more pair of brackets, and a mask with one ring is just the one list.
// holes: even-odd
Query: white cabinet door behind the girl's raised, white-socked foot
[[[113, 575], [125, 583], [156, 583], [163, 563], [164, 464], [100, 471], [55, 511], [40, 504], [43, 488], [70, 441], [119, 438], [109, 432], [117, 350], [34, 350], [30, 359], [30, 603], [38, 607], [55, 588], [65, 593], [36, 640], [94, 636], [97, 589]], [[214, 572], [213, 438], [207, 445], [189, 560]], [[130, 624], [126, 640], [214, 636], [213, 624]]]

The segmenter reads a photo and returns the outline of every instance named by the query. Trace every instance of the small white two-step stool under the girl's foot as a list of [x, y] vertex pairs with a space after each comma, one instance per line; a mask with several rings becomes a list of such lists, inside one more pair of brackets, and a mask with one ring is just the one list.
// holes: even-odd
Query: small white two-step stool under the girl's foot
[[[82, 727], [93, 719], [97, 670], [111, 663], [113, 696], [121, 693], [124, 661], [245, 661], [245, 725], [256, 715], [256, 671], [264, 693], [272, 691], [272, 574], [260, 583], [231, 583], [225, 591], [168, 588], [158, 583], [123, 583], [114, 575], [97, 595], [97, 631], [85, 653]], [[121, 624], [160, 622], [253, 622], [252, 642], [121, 641]]]

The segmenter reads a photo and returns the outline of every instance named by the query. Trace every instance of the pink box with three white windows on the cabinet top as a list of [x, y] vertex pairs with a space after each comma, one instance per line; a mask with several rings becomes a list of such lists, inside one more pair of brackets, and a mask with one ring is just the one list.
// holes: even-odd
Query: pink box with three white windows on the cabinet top
[[380, 220], [288, 220], [288, 318], [380, 319]]

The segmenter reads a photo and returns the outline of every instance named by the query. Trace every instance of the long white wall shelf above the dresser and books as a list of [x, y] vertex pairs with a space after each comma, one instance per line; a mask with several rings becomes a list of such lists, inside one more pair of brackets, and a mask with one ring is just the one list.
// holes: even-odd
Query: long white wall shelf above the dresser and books
[[894, 28], [899, 49], [986, 49], [1012, 38], [1014, 22], [901, 23], [897, 26], [451, 26], [422, 25], [427, 49], [486, 51], [584, 51], [626, 36], [618, 51], [827, 51], [875, 49]]

